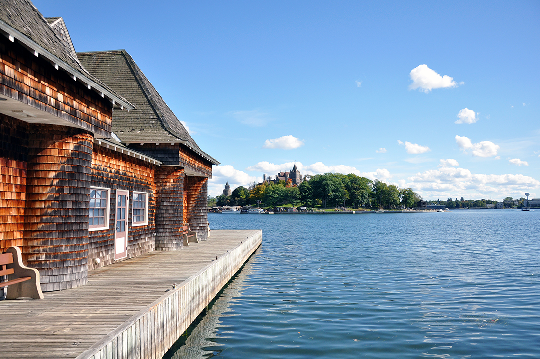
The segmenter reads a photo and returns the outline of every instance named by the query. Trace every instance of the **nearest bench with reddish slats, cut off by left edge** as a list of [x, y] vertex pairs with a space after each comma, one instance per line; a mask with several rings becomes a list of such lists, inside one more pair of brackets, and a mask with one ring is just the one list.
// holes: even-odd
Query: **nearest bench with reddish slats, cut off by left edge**
[[9, 247], [7, 252], [0, 254], [0, 276], [8, 276], [8, 281], [0, 282], [0, 288], [7, 287], [7, 299], [30, 297], [43, 299], [39, 285], [39, 272], [35, 268], [23, 265], [21, 249]]

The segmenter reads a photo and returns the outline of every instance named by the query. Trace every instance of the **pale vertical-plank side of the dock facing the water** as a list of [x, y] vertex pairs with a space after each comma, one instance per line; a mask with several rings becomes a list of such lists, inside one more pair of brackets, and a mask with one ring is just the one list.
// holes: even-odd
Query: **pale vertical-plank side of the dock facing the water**
[[262, 243], [262, 231], [212, 261], [76, 359], [161, 359]]

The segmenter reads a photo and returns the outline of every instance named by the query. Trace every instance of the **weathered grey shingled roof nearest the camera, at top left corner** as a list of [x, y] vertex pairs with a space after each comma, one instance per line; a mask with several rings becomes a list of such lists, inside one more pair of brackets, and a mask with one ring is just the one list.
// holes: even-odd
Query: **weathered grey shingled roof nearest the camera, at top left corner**
[[118, 103], [119, 107], [132, 109], [132, 105], [122, 96], [86, 71], [69, 44], [58, 37], [29, 0], [0, 0], [0, 9], [0, 33], [6, 33], [11, 41], [17, 39], [35, 51], [36, 56], [45, 58], [57, 69], [62, 67], [74, 80], [82, 80], [86, 86], [110, 98], [113, 104]]

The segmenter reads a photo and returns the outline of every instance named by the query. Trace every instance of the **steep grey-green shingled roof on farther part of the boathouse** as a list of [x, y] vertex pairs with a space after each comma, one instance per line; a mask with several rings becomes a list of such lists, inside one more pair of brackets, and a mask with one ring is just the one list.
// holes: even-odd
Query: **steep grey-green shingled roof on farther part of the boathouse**
[[136, 106], [130, 112], [113, 114], [113, 131], [124, 144], [181, 143], [219, 163], [199, 148], [125, 50], [78, 52], [77, 57], [94, 76]]

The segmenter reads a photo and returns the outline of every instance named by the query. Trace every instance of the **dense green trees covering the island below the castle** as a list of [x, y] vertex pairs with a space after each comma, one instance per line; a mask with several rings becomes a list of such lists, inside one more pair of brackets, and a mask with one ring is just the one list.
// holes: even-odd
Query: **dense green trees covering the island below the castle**
[[208, 198], [209, 206], [262, 207], [306, 206], [309, 208], [412, 208], [422, 198], [411, 188], [398, 188], [356, 174], [316, 174], [299, 186], [292, 182], [262, 182], [237, 187], [228, 197]]

